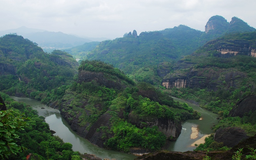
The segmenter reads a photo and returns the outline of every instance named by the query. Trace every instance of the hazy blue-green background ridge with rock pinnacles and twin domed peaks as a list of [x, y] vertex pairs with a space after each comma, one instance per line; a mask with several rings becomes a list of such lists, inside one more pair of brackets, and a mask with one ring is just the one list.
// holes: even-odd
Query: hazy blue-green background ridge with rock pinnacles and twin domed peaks
[[[123, 38], [102, 41], [89, 53], [79, 52], [79, 56], [84, 54], [83, 59], [110, 63], [138, 82], [156, 85], [160, 84], [160, 77], [165, 75], [159, 70], [159, 67], [164, 67], [163, 62], [172, 65], [183, 56], [192, 54], [207, 41], [224, 34], [254, 30], [255, 28], [237, 17], [233, 17], [228, 23], [222, 16], [216, 15], [207, 22], [205, 32], [184, 25], [161, 31], [141, 32], [139, 35], [134, 30]], [[67, 52], [74, 56], [77, 54], [72, 50]]]

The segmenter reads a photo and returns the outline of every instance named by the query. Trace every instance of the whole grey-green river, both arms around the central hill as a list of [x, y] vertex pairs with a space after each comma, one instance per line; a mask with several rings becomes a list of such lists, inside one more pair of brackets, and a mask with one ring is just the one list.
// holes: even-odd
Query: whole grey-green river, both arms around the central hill
[[[115, 158], [117, 160], [131, 160], [135, 159], [137, 156], [133, 154], [116, 152], [111, 150], [105, 150], [103, 148], [97, 147], [91, 144], [88, 140], [77, 135], [73, 131], [67, 121], [60, 115], [59, 110], [53, 109], [51, 107], [41, 104], [41, 102], [30, 99], [30, 98], [20, 98], [11, 97], [16, 101], [23, 101], [29, 104], [33, 109], [38, 111], [39, 116], [45, 117], [45, 121], [49, 124], [50, 129], [55, 131], [54, 135], [59, 136], [64, 142], [69, 142], [73, 145], [74, 151], [79, 151], [81, 153], [95, 154], [100, 158]], [[185, 102], [180, 99], [174, 98], [175, 101]], [[202, 138], [205, 135], [212, 134], [213, 131], [210, 129], [213, 123], [217, 123], [217, 114], [210, 111], [204, 110], [195, 104], [185, 102], [188, 106], [191, 106], [194, 110], [201, 113], [202, 120], [186, 120], [182, 123], [181, 135], [176, 142], [172, 142], [167, 150], [169, 151], [193, 151], [196, 146], [191, 146], [196, 140]], [[41, 109], [44, 107], [45, 109]], [[192, 127], [198, 129], [198, 136], [195, 139], [191, 139], [190, 135], [192, 133]]]

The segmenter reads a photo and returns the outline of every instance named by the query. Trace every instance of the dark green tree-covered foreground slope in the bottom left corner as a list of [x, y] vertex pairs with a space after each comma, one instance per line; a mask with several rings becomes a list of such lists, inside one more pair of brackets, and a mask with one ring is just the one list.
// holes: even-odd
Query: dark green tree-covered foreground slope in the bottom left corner
[[[0, 124], [1, 136], [4, 136], [4, 138], [0, 140], [0, 159], [5, 159], [7, 156], [8, 159], [11, 160], [26, 159], [26, 156], [30, 153], [32, 153], [31, 159], [81, 159], [81, 154], [72, 150], [71, 143], [64, 143], [60, 137], [52, 135], [44, 117], [38, 116], [36, 110], [33, 110], [32, 107], [23, 102], [14, 101], [2, 92], [0, 92], [0, 95], [8, 109], [6, 111], [0, 111], [1, 119], [9, 114], [8, 118], [1, 120], [1, 124], [3, 125]], [[14, 115], [14, 117], [12, 117], [11, 114]], [[22, 127], [22, 130], [19, 130], [19, 127]], [[9, 131], [4, 131], [7, 129]], [[9, 143], [9, 147], [7, 148], [9, 148], [12, 154], [8, 154], [8, 152], [4, 150], [7, 144], [3, 143], [6, 143], [4, 140], [7, 139], [12, 129], [14, 130], [12, 134], [15, 136], [13, 137], [15, 141]], [[3, 133], [3, 131], [8, 134]], [[17, 149], [18, 152], [14, 152]]]

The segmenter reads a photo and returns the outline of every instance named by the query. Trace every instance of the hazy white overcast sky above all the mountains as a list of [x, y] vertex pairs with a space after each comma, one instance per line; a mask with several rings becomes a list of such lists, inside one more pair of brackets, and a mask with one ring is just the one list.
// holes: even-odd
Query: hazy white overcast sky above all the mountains
[[87, 37], [123, 37], [180, 24], [204, 31], [211, 16], [256, 28], [256, 0], [0, 0], [0, 30], [21, 26]]

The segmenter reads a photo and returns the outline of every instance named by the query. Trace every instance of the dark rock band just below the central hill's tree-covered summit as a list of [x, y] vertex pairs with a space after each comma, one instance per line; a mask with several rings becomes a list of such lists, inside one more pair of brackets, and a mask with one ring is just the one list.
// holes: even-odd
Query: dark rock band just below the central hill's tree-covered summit
[[107, 88], [126, 88], [127, 86], [125, 84], [121, 83], [121, 80], [117, 78], [116, 82], [113, 80], [110, 80], [106, 78], [105, 74], [103, 72], [90, 72], [90, 71], [84, 71], [79, 70], [78, 71], [78, 82], [91, 82], [92, 80], [95, 80], [97, 83], [106, 86]]

